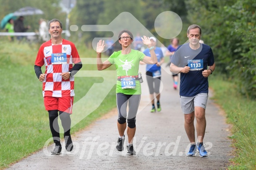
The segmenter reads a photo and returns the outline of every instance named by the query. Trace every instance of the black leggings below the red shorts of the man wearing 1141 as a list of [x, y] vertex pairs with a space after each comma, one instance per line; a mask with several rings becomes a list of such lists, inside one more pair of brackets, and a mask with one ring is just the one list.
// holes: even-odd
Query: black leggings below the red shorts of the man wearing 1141
[[[55, 144], [60, 145], [60, 129], [58, 124], [58, 110], [49, 110], [50, 131]], [[59, 111], [61, 124], [64, 129], [64, 136], [70, 135], [71, 119], [70, 114]], [[56, 119], [57, 118], [57, 119]]]

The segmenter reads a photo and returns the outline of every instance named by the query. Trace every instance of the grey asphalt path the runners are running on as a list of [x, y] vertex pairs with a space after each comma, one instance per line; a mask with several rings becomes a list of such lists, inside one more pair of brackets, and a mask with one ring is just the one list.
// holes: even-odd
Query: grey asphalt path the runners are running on
[[115, 149], [119, 136], [115, 108], [83, 131], [72, 135], [74, 143], [72, 152], [66, 152], [62, 144], [60, 155], [50, 155], [54, 145], [49, 145], [8, 169], [226, 169], [229, 159], [232, 158], [231, 141], [227, 138], [230, 135], [229, 125], [225, 123], [222, 111], [211, 99], [213, 92], [209, 92], [206, 107], [207, 125], [204, 138], [209, 156], [200, 157], [197, 153], [196, 156], [187, 157], [186, 152], [190, 144], [184, 130], [179, 90], [173, 89], [169, 68], [162, 67], [160, 87], [162, 111], [155, 113], [150, 113], [151, 104], [144, 75], [145, 65], [140, 66], [140, 71], [144, 83], [141, 84], [141, 103], [133, 140], [136, 155], [128, 155], [126, 149], [123, 152]]

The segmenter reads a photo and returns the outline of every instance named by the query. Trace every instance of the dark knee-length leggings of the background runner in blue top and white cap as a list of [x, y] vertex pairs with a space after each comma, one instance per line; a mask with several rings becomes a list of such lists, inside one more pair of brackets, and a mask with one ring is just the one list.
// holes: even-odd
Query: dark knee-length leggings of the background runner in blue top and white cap
[[149, 94], [154, 94], [154, 92], [159, 93], [161, 77], [153, 78], [153, 73], [149, 71], [146, 72], [146, 75], [148, 81]]

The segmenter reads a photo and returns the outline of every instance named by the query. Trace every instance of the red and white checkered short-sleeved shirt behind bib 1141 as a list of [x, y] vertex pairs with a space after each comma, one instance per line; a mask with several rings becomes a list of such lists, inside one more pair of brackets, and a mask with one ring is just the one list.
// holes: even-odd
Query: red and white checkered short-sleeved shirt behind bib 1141
[[[66, 54], [66, 64], [52, 64], [52, 56]], [[46, 67], [46, 78], [43, 80], [43, 97], [66, 97], [75, 96], [74, 77], [64, 80], [61, 73], [68, 72], [73, 64], [81, 62], [74, 43], [62, 39], [60, 45], [53, 45], [51, 40], [43, 43], [36, 56], [35, 65]]]

